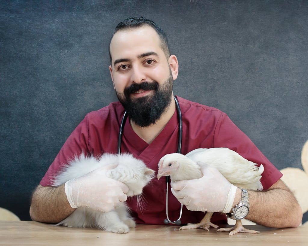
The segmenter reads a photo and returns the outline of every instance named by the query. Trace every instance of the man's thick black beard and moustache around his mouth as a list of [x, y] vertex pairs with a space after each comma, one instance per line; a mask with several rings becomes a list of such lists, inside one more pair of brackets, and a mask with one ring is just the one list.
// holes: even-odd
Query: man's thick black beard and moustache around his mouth
[[[172, 99], [173, 78], [170, 76], [161, 85], [157, 81], [144, 81], [140, 84], [132, 84], [124, 89], [124, 93], [116, 92], [116, 95], [127, 111], [130, 120], [140, 127], [148, 127], [155, 124], [165, 112]], [[151, 95], [132, 99], [130, 95], [139, 90], [152, 90]]]

